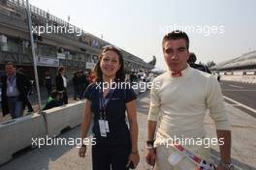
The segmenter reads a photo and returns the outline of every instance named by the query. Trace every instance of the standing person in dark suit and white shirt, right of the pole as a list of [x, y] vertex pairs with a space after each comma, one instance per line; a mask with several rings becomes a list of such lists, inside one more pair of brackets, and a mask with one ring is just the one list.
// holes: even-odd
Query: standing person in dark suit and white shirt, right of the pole
[[62, 103], [68, 104], [68, 94], [67, 94], [67, 78], [65, 77], [65, 68], [60, 66], [58, 68], [58, 73], [55, 78], [56, 90], [63, 91]]

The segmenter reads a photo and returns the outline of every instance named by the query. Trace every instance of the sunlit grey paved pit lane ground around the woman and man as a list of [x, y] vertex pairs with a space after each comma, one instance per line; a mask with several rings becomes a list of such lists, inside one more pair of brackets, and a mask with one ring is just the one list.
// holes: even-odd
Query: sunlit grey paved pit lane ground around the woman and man
[[[221, 83], [229, 87], [229, 84]], [[231, 87], [234, 87], [234, 84]], [[223, 88], [224, 89], [224, 88]], [[224, 89], [225, 90], [225, 89]], [[139, 149], [141, 162], [138, 170], [150, 170], [151, 167], [145, 163], [144, 141], [146, 140], [146, 123], [149, 106], [149, 93], [144, 93], [137, 99], [137, 113], [139, 122]], [[227, 103], [226, 103], [227, 104]], [[227, 104], [228, 114], [231, 118], [233, 131], [232, 161], [236, 164], [236, 170], [255, 170], [255, 125], [256, 120], [233, 105]], [[216, 137], [215, 127], [209, 118], [205, 121], [208, 137]], [[78, 138], [80, 137], [80, 126], [63, 132], [58, 138]], [[214, 156], [217, 156], [217, 146], [215, 146]], [[91, 169], [90, 147], [85, 158], [78, 156], [78, 148], [75, 145], [43, 146], [42, 148], [27, 148], [16, 153], [14, 159], [0, 166], [0, 170], [89, 170]]]

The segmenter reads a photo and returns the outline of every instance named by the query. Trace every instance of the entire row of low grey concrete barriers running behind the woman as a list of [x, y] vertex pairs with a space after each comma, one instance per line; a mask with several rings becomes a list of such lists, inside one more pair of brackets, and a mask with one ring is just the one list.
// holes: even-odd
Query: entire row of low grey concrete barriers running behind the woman
[[[141, 93], [137, 89], [136, 93]], [[33, 139], [55, 137], [64, 128], [81, 124], [85, 101], [54, 107], [42, 112], [0, 124], [0, 165], [11, 160], [13, 155], [32, 145]], [[91, 131], [92, 124], [89, 131]], [[90, 132], [89, 132], [90, 133]]]

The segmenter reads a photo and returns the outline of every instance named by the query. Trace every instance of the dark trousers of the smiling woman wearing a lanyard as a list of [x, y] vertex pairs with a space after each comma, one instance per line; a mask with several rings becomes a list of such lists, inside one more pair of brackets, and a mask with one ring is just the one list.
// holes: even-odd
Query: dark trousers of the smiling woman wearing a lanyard
[[[126, 168], [130, 148], [115, 146], [92, 146], [93, 170], [129, 170]], [[112, 167], [112, 169], [111, 169]]]

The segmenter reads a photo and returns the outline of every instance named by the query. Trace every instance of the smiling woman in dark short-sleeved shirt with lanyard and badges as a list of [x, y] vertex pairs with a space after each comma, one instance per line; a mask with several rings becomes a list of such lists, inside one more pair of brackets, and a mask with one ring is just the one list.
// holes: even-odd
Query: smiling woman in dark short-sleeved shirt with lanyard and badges
[[[84, 139], [93, 117], [92, 146], [93, 170], [125, 170], [140, 161], [138, 152], [138, 125], [136, 95], [132, 89], [111, 88], [112, 82], [124, 81], [121, 52], [106, 46], [99, 55], [94, 68], [94, 83], [85, 92], [85, 111], [81, 124], [81, 139]], [[103, 89], [102, 84], [108, 84]], [[101, 86], [101, 88], [99, 88]], [[130, 130], [125, 122], [125, 110]], [[85, 156], [86, 145], [80, 147], [79, 155]]]

